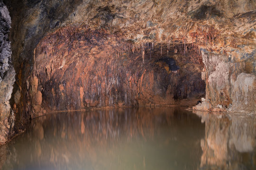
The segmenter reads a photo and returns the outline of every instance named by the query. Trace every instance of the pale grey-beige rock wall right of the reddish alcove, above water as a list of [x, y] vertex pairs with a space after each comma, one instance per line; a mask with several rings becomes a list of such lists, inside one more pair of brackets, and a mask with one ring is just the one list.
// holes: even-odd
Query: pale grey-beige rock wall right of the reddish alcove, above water
[[[206, 82], [206, 98], [213, 107], [222, 105], [229, 111], [255, 113], [256, 50], [222, 54], [202, 50], [205, 65], [202, 77]], [[206, 108], [206, 110], [208, 110]]]

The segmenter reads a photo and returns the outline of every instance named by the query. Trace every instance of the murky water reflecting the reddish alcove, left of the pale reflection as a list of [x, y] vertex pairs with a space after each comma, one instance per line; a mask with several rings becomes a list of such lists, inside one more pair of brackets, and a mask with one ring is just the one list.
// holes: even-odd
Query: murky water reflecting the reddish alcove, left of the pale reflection
[[204, 125], [179, 108], [57, 113], [7, 146], [8, 169], [197, 169]]

